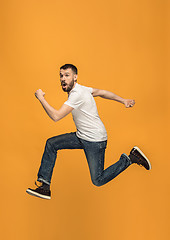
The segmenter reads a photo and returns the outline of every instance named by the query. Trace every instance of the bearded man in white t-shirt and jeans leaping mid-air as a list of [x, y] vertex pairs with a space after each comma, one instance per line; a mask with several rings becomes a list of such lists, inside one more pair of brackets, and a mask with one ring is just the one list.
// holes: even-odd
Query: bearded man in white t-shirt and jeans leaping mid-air
[[59, 110], [50, 106], [44, 98], [45, 93], [39, 89], [35, 92], [49, 117], [57, 122], [72, 112], [77, 131], [51, 137], [47, 140], [38, 172], [40, 185], [35, 182], [36, 189], [27, 189], [30, 195], [51, 199], [51, 177], [55, 165], [57, 151], [61, 149], [83, 149], [87, 158], [91, 180], [96, 186], [102, 186], [115, 178], [133, 163], [150, 170], [151, 164], [144, 153], [134, 147], [129, 156], [123, 153], [118, 162], [104, 170], [107, 132], [98, 115], [94, 97], [102, 97], [118, 101], [125, 107], [133, 107], [134, 100], [123, 99], [116, 94], [96, 88], [85, 87], [77, 83], [77, 68], [72, 64], [60, 67], [62, 90], [68, 93], [68, 100]]

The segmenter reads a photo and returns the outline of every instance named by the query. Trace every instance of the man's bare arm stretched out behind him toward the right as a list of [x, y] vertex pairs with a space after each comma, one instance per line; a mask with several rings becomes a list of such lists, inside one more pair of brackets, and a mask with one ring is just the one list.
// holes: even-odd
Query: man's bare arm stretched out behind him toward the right
[[123, 103], [125, 107], [133, 107], [135, 104], [135, 100], [132, 99], [124, 99], [118, 95], [116, 95], [113, 92], [107, 91], [107, 90], [102, 90], [102, 89], [97, 89], [93, 88], [92, 92], [93, 97], [102, 97], [110, 100], [114, 100], [120, 103]]

